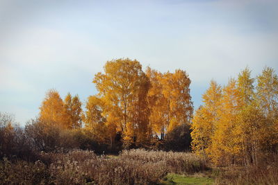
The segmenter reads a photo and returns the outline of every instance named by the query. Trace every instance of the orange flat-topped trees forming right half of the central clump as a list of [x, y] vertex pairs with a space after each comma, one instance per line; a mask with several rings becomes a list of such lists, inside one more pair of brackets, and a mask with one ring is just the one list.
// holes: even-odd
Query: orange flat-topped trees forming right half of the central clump
[[193, 104], [190, 96], [190, 79], [186, 71], [160, 73], [147, 68], [151, 82], [148, 92], [149, 121], [153, 134], [165, 134], [182, 124], [190, 123]]

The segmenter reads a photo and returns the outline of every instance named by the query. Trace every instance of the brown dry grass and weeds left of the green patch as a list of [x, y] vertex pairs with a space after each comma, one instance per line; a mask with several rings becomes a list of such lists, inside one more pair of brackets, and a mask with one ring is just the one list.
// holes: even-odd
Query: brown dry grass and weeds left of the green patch
[[167, 173], [195, 173], [204, 161], [183, 152], [124, 150], [118, 157], [94, 152], [41, 153], [41, 161], [1, 162], [0, 184], [156, 184]]

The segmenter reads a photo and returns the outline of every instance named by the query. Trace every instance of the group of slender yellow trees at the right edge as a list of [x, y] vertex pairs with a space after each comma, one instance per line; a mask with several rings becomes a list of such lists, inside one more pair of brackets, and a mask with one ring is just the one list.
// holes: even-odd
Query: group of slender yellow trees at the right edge
[[214, 80], [193, 117], [192, 147], [219, 166], [259, 164], [278, 152], [278, 77], [241, 71], [227, 85]]

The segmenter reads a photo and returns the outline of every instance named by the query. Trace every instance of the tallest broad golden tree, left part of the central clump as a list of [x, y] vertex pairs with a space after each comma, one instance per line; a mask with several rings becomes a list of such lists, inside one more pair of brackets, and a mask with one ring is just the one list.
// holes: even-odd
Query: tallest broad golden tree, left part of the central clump
[[128, 58], [108, 61], [93, 82], [108, 107], [104, 116], [109, 125], [117, 125], [126, 145], [147, 139], [149, 80], [140, 63]]

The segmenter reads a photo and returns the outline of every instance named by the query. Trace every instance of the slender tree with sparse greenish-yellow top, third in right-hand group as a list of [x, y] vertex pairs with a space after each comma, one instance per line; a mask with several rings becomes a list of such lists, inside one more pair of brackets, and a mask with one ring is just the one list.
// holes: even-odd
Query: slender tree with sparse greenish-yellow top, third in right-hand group
[[[237, 116], [237, 132], [240, 135], [241, 157], [245, 165], [257, 161], [259, 138], [263, 135], [263, 116], [257, 104], [254, 94], [254, 78], [251, 78], [251, 71], [245, 68], [238, 74], [237, 87], [243, 102], [243, 107]], [[261, 132], [261, 135], [259, 135]]]

